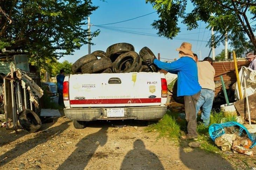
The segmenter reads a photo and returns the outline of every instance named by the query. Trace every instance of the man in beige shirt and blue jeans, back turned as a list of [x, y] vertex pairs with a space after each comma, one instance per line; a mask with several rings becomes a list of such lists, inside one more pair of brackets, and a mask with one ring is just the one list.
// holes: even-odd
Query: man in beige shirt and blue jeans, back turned
[[198, 81], [202, 89], [196, 104], [196, 114], [202, 107], [201, 119], [203, 120], [204, 126], [209, 126], [210, 124], [211, 108], [213, 107], [215, 69], [212, 65], [213, 59], [210, 57], [197, 62]]

